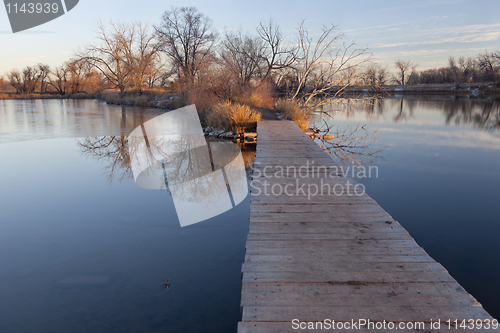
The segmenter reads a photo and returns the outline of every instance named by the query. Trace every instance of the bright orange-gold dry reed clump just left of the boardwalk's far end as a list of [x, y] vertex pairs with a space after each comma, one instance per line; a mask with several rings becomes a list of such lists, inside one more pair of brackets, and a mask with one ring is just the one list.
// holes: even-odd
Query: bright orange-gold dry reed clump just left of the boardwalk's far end
[[248, 105], [222, 102], [208, 113], [207, 123], [211, 127], [243, 133], [254, 131], [260, 118], [260, 112], [252, 110]]

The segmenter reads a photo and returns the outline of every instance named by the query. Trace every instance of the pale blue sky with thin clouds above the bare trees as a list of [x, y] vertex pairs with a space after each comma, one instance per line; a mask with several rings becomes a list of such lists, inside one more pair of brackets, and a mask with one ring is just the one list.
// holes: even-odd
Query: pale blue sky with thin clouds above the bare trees
[[390, 71], [398, 59], [422, 70], [446, 66], [450, 56], [500, 50], [500, 0], [80, 0], [65, 15], [16, 34], [0, 8], [0, 75], [37, 63], [62, 64], [94, 40], [99, 19], [153, 25], [171, 6], [198, 8], [220, 32], [241, 27], [254, 33], [259, 22], [272, 18], [290, 42], [302, 20], [313, 36], [334, 24], [347, 42], [368, 47]]

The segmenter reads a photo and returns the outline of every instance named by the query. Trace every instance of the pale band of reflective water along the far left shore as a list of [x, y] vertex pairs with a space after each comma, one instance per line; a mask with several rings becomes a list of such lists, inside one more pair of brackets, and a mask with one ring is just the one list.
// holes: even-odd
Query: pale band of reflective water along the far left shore
[[97, 100], [0, 100], [0, 143], [128, 135], [162, 113]]

